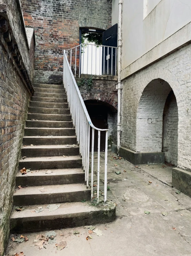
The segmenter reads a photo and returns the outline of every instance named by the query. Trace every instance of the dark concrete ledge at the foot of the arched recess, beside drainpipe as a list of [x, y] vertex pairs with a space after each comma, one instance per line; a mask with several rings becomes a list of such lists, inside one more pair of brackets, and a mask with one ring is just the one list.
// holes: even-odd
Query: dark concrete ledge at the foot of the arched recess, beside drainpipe
[[120, 147], [119, 155], [133, 165], [164, 164], [164, 152], [140, 153]]

